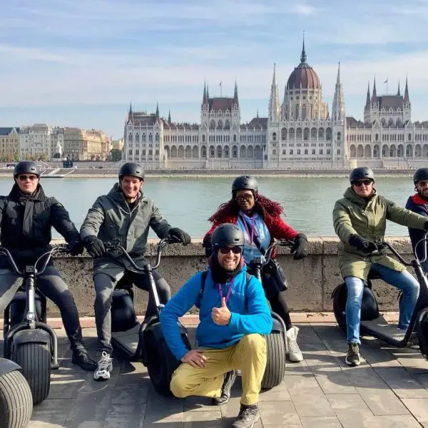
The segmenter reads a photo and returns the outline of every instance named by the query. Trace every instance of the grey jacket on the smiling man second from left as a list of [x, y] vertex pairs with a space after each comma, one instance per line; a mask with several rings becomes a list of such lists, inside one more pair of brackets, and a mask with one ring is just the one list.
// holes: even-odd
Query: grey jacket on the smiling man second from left
[[[80, 230], [81, 239], [95, 235], [103, 242], [120, 240], [123, 248], [131, 255], [137, 265], [146, 263], [147, 237], [149, 228], [152, 228], [159, 238], [166, 238], [171, 226], [153, 203], [142, 192], [131, 210], [126, 203], [118, 183], [113, 185], [108, 195], [97, 198], [89, 209]], [[96, 275], [101, 270], [118, 280], [123, 275], [124, 268], [130, 264], [124, 256], [106, 255], [96, 258], [93, 263]]]

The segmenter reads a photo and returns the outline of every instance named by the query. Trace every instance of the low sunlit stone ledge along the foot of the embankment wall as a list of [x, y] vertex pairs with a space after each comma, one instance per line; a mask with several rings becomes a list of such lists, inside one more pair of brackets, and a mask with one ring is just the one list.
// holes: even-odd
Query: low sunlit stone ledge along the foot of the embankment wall
[[[399, 312], [383, 312], [385, 320], [389, 322], [398, 322]], [[292, 312], [290, 314], [291, 320], [296, 324], [306, 324], [310, 322], [332, 322], [335, 323], [335, 315], [333, 312]], [[141, 322], [143, 316], [138, 316], [138, 320]], [[191, 327], [199, 324], [198, 314], [188, 314], [181, 317], [180, 320], [184, 325]], [[82, 328], [95, 328], [95, 317], [81, 317], [80, 318]], [[61, 318], [48, 318], [48, 324], [54, 329], [63, 328], [63, 322]], [[0, 328], [3, 329], [3, 320], [0, 320]]]

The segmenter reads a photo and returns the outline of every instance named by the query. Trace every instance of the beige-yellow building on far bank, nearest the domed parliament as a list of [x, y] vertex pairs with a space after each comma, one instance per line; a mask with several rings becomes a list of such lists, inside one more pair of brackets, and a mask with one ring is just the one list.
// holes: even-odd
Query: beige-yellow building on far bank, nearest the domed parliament
[[106, 161], [110, 138], [103, 131], [64, 128], [63, 157], [71, 161]]

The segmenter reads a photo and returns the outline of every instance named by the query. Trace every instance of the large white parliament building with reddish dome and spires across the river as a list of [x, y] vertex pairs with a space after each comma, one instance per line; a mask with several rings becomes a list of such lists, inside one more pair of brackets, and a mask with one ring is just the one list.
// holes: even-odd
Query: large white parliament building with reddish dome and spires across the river
[[146, 168], [409, 168], [428, 160], [428, 121], [412, 122], [407, 78], [403, 96], [399, 87], [377, 96], [374, 82], [358, 121], [346, 116], [340, 64], [331, 110], [325, 103], [305, 41], [282, 103], [274, 66], [266, 118], [241, 123], [236, 83], [233, 98], [210, 97], [205, 84], [200, 123], [130, 107], [123, 140], [123, 160]]

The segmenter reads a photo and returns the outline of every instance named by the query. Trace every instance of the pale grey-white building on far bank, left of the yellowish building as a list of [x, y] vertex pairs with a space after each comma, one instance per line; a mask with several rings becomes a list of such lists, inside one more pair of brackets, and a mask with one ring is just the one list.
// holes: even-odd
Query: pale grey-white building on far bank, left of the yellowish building
[[19, 148], [21, 160], [51, 158], [51, 126], [46, 123], [35, 123], [33, 126], [19, 128]]

